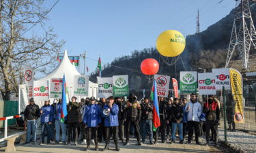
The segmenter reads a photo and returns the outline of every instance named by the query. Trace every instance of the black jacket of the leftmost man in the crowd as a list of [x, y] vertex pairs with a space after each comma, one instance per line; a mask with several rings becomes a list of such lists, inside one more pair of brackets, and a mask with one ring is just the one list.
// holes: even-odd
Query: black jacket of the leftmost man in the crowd
[[40, 117], [40, 109], [38, 105], [27, 105], [24, 111], [25, 120], [37, 120]]

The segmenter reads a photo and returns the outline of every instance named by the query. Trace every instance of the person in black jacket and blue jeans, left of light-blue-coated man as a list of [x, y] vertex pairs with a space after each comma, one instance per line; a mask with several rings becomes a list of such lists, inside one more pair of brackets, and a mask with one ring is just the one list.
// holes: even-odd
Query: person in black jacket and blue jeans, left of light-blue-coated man
[[179, 99], [174, 99], [174, 104], [171, 106], [171, 126], [172, 126], [172, 137], [171, 137], [171, 144], [175, 142], [175, 133], [176, 128], [179, 128], [179, 135], [180, 135], [180, 143], [183, 144], [183, 107], [180, 105]]

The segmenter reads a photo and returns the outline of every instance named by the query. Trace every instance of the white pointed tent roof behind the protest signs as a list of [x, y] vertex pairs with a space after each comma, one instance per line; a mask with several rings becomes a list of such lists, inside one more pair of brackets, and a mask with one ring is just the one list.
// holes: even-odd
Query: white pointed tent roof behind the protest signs
[[68, 86], [73, 86], [74, 84], [74, 75], [81, 75], [79, 71], [76, 70], [76, 67], [72, 65], [70, 59], [68, 58], [68, 52], [65, 50], [63, 59], [61, 63], [48, 75], [44, 78], [41, 78], [38, 81], [47, 81], [51, 78], [63, 78], [63, 74], [65, 73], [65, 79]]

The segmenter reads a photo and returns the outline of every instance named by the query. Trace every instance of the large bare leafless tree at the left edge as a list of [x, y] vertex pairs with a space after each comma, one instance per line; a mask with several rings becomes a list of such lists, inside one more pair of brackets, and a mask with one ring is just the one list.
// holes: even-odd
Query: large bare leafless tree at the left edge
[[[63, 46], [52, 29], [44, 29], [49, 10], [42, 7], [43, 0], [0, 0], [0, 91], [3, 100], [18, 92], [23, 82], [24, 64], [35, 71], [48, 73], [56, 65]], [[40, 36], [28, 34], [31, 27], [40, 26]], [[30, 31], [29, 31], [30, 32]]]

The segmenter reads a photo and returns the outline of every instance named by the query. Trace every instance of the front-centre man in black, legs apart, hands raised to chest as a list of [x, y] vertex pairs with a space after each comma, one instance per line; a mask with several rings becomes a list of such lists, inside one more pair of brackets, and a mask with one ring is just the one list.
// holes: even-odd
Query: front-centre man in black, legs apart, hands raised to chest
[[138, 145], [141, 146], [141, 134], [139, 133], [139, 120], [141, 120], [141, 105], [137, 101], [134, 93], [130, 93], [129, 99], [124, 109], [124, 121], [126, 122], [126, 143], [129, 144], [130, 140], [130, 126], [133, 124], [135, 134], [137, 135]]

